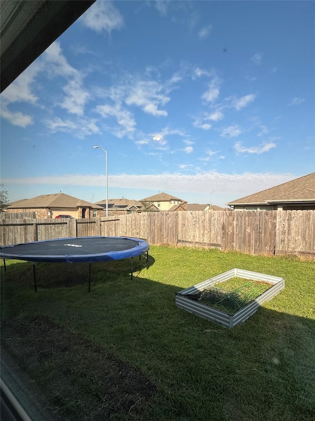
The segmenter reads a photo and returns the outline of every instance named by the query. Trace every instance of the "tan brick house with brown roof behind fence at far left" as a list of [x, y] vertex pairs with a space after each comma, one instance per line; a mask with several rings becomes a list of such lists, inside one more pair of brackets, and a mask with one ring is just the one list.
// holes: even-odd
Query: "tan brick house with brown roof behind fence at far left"
[[102, 207], [64, 193], [42, 194], [32, 199], [22, 199], [7, 206], [7, 212], [36, 212], [37, 218], [55, 218], [71, 215], [74, 218], [96, 217]]

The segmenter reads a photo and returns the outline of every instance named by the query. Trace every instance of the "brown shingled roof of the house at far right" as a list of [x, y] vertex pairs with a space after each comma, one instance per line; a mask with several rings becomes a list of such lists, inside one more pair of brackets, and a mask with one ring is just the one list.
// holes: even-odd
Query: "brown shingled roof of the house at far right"
[[315, 202], [315, 172], [226, 204], [266, 205], [288, 202]]

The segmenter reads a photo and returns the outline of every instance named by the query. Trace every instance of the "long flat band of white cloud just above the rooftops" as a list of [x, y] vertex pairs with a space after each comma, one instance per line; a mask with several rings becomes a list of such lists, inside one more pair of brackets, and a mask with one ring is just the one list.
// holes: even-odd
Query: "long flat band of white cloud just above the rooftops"
[[[152, 154], [152, 153], [151, 153]], [[180, 193], [200, 193], [206, 194], [216, 187], [217, 194], [224, 197], [226, 202], [255, 193], [257, 191], [269, 189], [275, 185], [285, 183], [296, 178], [292, 174], [277, 173], [242, 173], [225, 174], [217, 171], [199, 172], [196, 174], [166, 173], [166, 174], [120, 174], [109, 175], [108, 184], [111, 188], [124, 189], [145, 189], [154, 190], [154, 186], [159, 186], [161, 191]], [[3, 179], [6, 185], [57, 185], [57, 186], [104, 186], [105, 175], [83, 175], [83, 174], [63, 174], [56, 177], [37, 177]], [[148, 186], [150, 188], [148, 189]], [[153, 194], [150, 193], [150, 194]], [[149, 195], [149, 194], [148, 194]], [[139, 197], [141, 198], [141, 197]], [[185, 197], [183, 197], [185, 198]], [[17, 198], [18, 199], [18, 198]]]

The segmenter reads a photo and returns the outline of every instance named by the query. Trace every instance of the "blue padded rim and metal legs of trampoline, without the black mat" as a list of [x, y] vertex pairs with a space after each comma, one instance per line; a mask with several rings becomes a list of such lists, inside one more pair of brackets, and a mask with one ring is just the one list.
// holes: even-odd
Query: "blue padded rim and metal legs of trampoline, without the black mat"
[[[136, 241], [138, 243], [138, 246], [133, 247], [131, 249], [126, 249], [126, 250], [121, 250], [119, 252], [115, 252], [115, 254], [113, 255], [113, 252], [106, 252], [106, 253], [99, 253], [99, 254], [93, 254], [93, 255], [86, 255], [85, 257], [81, 257], [78, 258], [77, 256], [79, 255], [74, 255], [75, 257], [72, 258], [67, 258], [65, 259], [63, 258], [56, 258], [52, 257], [52, 256], [47, 256], [45, 259], [45, 256], [41, 256], [40, 258], [36, 257], [36, 256], [29, 256], [29, 255], [25, 255], [24, 257], [20, 257], [18, 255], [12, 255], [13, 257], [10, 257], [9, 254], [5, 254], [2, 252], [3, 249], [8, 248], [8, 247], [14, 247], [14, 246], [18, 246], [20, 244], [37, 244], [37, 243], [43, 243], [43, 242], [49, 242], [49, 241], [57, 241], [57, 240], [66, 240], [66, 241], [77, 241], [78, 239], [82, 239], [82, 238], [119, 238], [119, 239], [127, 239], [127, 240], [133, 240]], [[89, 292], [91, 292], [91, 272], [92, 272], [92, 263], [93, 262], [108, 262], [108, 261], [113, 261], [113, 260], [123, 260], [123, 259], [131, 259], [131, 265], [130, 265], [130, 272], [131, 272], [131, 276], [130, 276], [130, 280], [132, 281], [133, 279], [133, 257], [135, 256], [139, 256], [139, 261], [141, 261], [141, 255], [146, 253], [146, 264], [147, 264], [147, 268], [148, 268], [148, 259], [149, 259], [149, 249], [150, 249], [150, 245], [149, 243], [147, 243], [145, 240], [142, 240], [140, 238], [134, 238], [134, 237], [125, 237], [125, 236], [121, 236], [121, 237], [105, 237], [105, 236], [91, 236], [91, 237], [67, 237], [67, 238], [54, 238], [54, 239], [50, 239], [50, 240], [40, 240], [40, 241], [30, 241], [27, 243], [20, 243], [20, 244], [13, 244], [13, 245], [7, 245], [7, 246], [1, 246], [0, 247], [0, 259], [3, 259], [3, 267], [4, 267], [4, 271], [6, 272], [6, 265], [5, 265], [5, 260], [23, 260], [23, 261], [27, 261], [27, 262], [32, 262], [33, 265], [33, 279], [34, 279], [34, 290], [35, 292], [37, 292], [37, 278], [36, 278], [36, 268], [35, 265], [36, 263], [76, 263], [76, 262], [87, 262], [89, 263]], [[136, 250], [134, 250], [136, 248]], [[127, 252], [129, 250], [129, 252]], [[131, 250], [133, 250], [133, 252], [131, 252]], [[125, 252], [125, 253], [124, 253]], [[119, 257], [119, 253], [124, 254], [130, 254], [132, 253], [133, 256], [124, 256], [124, 257]], [[3, 257], [4, 256], [4, 257]], [[65, 255], [64, 255], [65, 256]], [[90, 257], [90, 259], [89, 259]], [[71, 261], [73, 260], [73, 261]]]

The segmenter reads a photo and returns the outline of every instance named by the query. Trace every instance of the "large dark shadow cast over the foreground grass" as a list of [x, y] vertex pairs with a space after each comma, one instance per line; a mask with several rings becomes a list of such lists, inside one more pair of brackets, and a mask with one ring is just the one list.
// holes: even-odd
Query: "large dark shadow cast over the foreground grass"
[[[5, 346], [19, 355], [20, 367], [58, 414], [92, 420], [92, 405], [94, 417], [108, 419], [102, 411], [115, 408], [111, 399], [119, 396], [104, 394], [114, 386], [100, 374], [109, 371], [97, 351], [102, 350], [124, 361], [129, 374], [136, 370], [158, 387], [155, 397], [139, 395], [134, 406], [112, 410], [111, 420], [203, 421], [209, 414], [215, 421], [313, 420], [315, 322], [277, 311], [285, 290], [272, 306], [266, 303], [228, 330], [177, 308], [175, 292], [183, 286], [144, 277], [149, 272], [140, 266], [130, 281], [128, 262], [110, 263], [106, 276], [102, 264], [95, 264], [91, 294], [85, 285], [34, 294], [32, 272], [27, 282], [17, 276], [21, 264], [10, 265], [1, 279], [2, 318], [15, 341]], [[71, 346], [73, 333], [79, 347]], [[59, 336], [66, 349], [60, 349]], [[89, 352], [80, 353], [85, 345]]]

